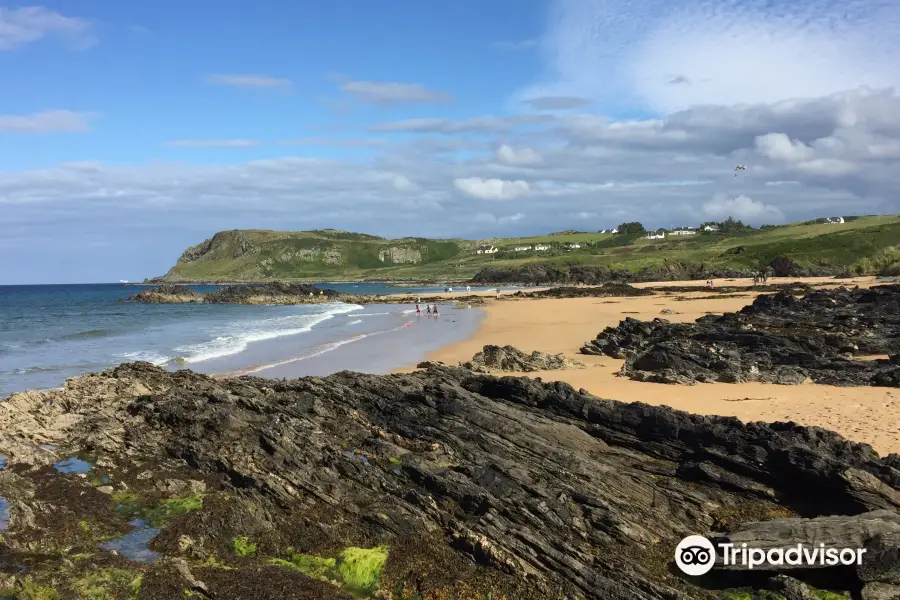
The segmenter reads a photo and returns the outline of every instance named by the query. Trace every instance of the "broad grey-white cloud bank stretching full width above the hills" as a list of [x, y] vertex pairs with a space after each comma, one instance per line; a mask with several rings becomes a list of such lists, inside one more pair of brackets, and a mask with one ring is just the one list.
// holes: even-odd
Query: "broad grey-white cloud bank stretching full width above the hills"
[[[61, 249], [96, 234], [128, 264], [155, 257], [144, 276], [167, 269], [188, 245], [234, 228], [483, 239], [631, 220], [659, 227], [734, 216], [756, 225], [900, 213], [900, 97], [890, 91], [703, 106], [631, 121], [577, 114], [538, 123], [521, 115], [442, 119], [433, 129], [439, 135], [393, 140], [365, 158], [124, 166], [73, 155], [43, 169], [7, 168], [0, 170], [0, 244], [21, 236], [17, 250], [45, 256], [41, 266], [52, 270]], [[779, 146], [785, 139], [790, 145]], [[801, 148], [799, 160], [770, 157], [757, 140], [769, 140], [762, 143], [769, 150]], [[182, 140], [222, 141], [238, 148], [248, 142]], [[516, 156], [540, 148], [541, 160], [503, 162], [501, 145]], [[740, 177], [737, 163], [747, 164]], [[141, 241], [148, 237], [152, 247]], [[50, 245], [37, 241], [44, 239]], [[112, 264], [100, 254], [79, 260]], [[13, 263], [0, 261], [0, 281], [12, 280]]]

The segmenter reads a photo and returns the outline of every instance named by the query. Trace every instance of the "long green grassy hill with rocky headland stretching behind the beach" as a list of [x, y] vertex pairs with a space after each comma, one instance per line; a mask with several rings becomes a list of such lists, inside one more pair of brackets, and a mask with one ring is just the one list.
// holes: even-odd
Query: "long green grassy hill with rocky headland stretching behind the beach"
[[[498, 249], [477, 254], [480, 244]], [[546, 244], [543, 251], [516, 250]], [[580, 245], [573, 247], [572, 245]], [[798, 223], [734, 233], [647, 239], [643, 234], [561, 233], [487, 240], [385, 239], [333, 229], [233, 230], [188, 248], [162, 278], [185, 281], [461, 280], [491, 267], [528, 263], [605, 266], [638, 271], [673, 261], [710, 269], [755, 269], [788, 257], [809, 269], [884, 269], [898, 256], [900, 217], [847, 218], [846, 223]], [[889, 265], [888, 265], [889, 267]], [[896, 268], [896, 265], [895, 265]]]

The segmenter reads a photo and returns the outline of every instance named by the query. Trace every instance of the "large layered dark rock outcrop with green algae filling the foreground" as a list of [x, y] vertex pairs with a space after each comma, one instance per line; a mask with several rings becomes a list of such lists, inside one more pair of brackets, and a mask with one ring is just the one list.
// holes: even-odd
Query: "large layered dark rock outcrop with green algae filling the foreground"
[[[900, 458], [831, 432], [462, 368], [285, 381], [134, 363], [0, 406], [7, 582], [61, 597], [703, 600], [715, 577], [672, 568], [687, 534], [900, 508]], [[99, 549], [136, 517], [158, 555]], [[893, 573], [873, 568], [841, 588]]]

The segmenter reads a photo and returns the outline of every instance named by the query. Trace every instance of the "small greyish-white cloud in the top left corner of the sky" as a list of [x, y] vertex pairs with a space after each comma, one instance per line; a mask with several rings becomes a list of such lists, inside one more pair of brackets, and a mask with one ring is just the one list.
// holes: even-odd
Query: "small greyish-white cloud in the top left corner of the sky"
[[15, 50], [49, 36], [57, 36], [76, 50], [97, 43], [90, 22], [64, 16], [42, 6], [0, 6], [0, 50]]

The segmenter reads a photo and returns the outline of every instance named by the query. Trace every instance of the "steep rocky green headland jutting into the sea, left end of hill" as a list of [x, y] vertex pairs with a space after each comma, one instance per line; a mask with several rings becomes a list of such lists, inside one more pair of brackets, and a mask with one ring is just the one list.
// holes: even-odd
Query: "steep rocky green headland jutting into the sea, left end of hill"
[[265, 280], [340, 276], [393, 265], [418, 265], [459, 254], [453, 241], [386, 240], [337, 230], [220, 231], [182, 253], [169, 281]]

